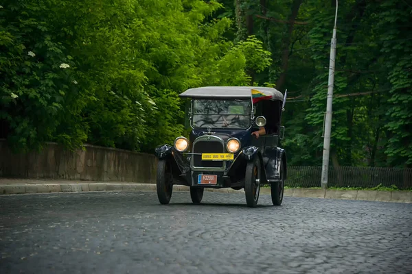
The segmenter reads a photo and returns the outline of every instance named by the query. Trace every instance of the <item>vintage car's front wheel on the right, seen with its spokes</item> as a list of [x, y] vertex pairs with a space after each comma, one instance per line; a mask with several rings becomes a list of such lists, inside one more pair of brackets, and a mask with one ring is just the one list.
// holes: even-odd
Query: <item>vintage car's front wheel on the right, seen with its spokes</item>
[[246, 203], [250, 208], [258, 205], [260, 192], [260, 161], [258, 158], [247, 163], [246, 175], [244, 177], [244, 193]]

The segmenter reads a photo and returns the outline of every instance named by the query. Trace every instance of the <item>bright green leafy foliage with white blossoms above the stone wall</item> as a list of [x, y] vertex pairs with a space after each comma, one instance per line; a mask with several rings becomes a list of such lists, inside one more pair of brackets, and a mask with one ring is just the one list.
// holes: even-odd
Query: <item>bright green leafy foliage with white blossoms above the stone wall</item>
[[152, 151], [183, 132], [177, 95], [247, 85], [270, 64], [256, 38], [234, 46], [222, 5], [187, 1], [5, 1], [3, 128], [16, 149], [54, 140]]

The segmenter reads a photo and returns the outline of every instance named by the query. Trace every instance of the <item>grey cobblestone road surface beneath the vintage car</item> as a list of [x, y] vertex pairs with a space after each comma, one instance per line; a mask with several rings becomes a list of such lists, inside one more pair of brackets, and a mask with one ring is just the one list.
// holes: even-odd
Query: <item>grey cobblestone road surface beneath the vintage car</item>
[[0, 273], [412, 273], [412, 204], [205, 192], [0, 197]]

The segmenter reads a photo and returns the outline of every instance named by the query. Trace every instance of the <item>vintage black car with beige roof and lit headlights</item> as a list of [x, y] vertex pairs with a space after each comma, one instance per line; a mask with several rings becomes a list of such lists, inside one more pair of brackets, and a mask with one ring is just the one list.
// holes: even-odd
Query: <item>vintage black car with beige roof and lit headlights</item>
[[[275, 88], [216, 86], [191, 88], [179, 95], [190, 102], [190, 137], [155, 149], [157, 196], [168, 204], [173, 185], [190, 186], [194, 203], [205, 188], [244, 188], [247, 206], [258, 203], [260, 186], [271, 186], [272, 202], [280, 206], [286, 179], [286, 152], [278, 147], [286, 99]], [[264, 127], [266, 134], [252, 132]]]

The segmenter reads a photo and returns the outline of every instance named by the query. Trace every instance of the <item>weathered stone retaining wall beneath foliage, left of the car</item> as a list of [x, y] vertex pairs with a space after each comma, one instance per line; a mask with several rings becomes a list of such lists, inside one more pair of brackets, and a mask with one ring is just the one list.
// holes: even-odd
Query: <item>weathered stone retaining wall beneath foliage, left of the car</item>
[[155, 155], [85, 145], [67, 151], [48, 142], [41, 152], [14, 154], [0, 140], [0, 177], [155, 184]]

